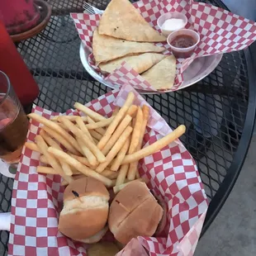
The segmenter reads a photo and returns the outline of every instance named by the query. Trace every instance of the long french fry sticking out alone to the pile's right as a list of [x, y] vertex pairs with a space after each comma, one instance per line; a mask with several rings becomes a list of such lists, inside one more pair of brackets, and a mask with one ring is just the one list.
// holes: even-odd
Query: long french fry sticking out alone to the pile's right
[[174, 140], [177, 140], [181, 135], [183, 135], [186, 131], [186, 127], [181, 125], [178, 126], [175, 130], [173, 130], [168, 135], [164, 136], [162, 139], [154, 142], [151, 145], [146, 146], [144, 149], [140, 149], [139, 151], [128, 154], [123, 159], [122, 164], [130, 164], [132, 162], [135, 162], [136, 160], [140, 160], [148, 156], [149, 154], [154, 154], [154, 152], [159, 151], [160, 149], [163, 149], [165, 146], [172, 143]]

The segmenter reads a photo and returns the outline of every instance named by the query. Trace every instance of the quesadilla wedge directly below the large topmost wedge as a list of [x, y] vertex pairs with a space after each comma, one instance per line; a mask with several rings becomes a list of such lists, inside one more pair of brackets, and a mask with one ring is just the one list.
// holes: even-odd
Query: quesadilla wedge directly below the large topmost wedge
[[142, 54], [147, 52], [162, 52], [164, 47], [150, 43], [130, 42], [116, 39], [111, 36], [99, 35], [97, 29], [92, 37], [92, 51], [97, 63], [107, 62], [126, 55]]

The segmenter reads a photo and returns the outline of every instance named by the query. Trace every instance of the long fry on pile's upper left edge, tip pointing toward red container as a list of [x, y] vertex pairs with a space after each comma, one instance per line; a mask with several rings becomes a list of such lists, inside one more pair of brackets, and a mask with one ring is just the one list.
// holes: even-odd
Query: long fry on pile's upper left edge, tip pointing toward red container
[[[74, 138], [71, 135], [69, 135], [69, 133], [66, 130], [61, 128], [57, 123], [55, 123], [54, 121], [50, 121], [43, 116], [39, 116], [36, 113], [31, 113], [28, 115], [28, 117], [40, 122], [41, 124], [43, 124], [45, 126], [48, 126], [52, 130], [57, 131], [59, 133], [59, 135], [62, 135], [65, 140], [69, 141], [69, 143], [73, 146], [74, 149], [76, 149], [80, 152], [81, 149], [78, 145], [78, 142], [76, 140], [74, 140]], [[72, 152], [72, 153], [76, 154], [74, 152]]]

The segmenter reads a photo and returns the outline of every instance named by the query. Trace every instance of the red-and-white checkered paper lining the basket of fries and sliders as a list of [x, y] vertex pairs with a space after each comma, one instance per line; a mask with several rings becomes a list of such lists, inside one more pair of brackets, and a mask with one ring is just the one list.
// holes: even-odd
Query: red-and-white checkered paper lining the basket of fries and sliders
[[[135, 93], [135, 104], [149, 104], [130, 85], [108, 92], [87, 104], [104, 116], [111, 116], [115, 106], [122, 106], [128, 92]], [[82, 102], [84, 103], [84, 102]], [[59, 115], [40, 107], [33, 112], [50, 118]], [[78, 115], [77, 111], [67, 111]], [[31, 121], [28, 141], [34, 141], [40, 124]], [[150, 145], [172, 129], [150, 107], [149, 126], [144, 143]], [[62, 208], [64, 187], [59, 175], [36, 173], [40, 154], [24, 148], [12, 191], [12, 220], [9, 255], [86, 255], [86, 244], [73, 242], [59, 233], [58, 217]], [[207, 209], [197, 165], [183, 144], [177, 140], [161, 151], [140, 160], [140, 175], [149, 179], [149, 188], [166, 204], [167, 225], [160, 237], [133, 239], [121, 255], [192, 255], [197, 245]], [[143, 246], [141, 246], [143, 245]], [[135, 254], [136, 252], [136, 254]], [[144, 252], [144, 253], [143, 253]]]

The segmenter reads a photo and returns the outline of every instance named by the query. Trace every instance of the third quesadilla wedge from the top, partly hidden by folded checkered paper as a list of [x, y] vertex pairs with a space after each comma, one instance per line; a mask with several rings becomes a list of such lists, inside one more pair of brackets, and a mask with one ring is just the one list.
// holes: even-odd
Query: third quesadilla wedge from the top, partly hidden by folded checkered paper
[[137, 73], [143, 73], [164, 58], [165, 55], [146, 53], [142, 55], [133, 55], [122, 57], [120, 59], [114, 59], [107, 63], [99, 64], [99, 67], [102, 69], [102, 71], [111, 73], [115, 69], [118, 69], [124, 61], [126, 61], [126, 63], [129, 64], [130, 67]]

